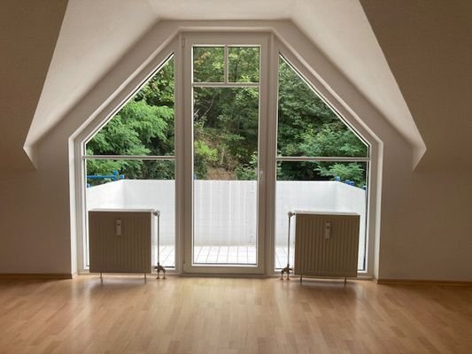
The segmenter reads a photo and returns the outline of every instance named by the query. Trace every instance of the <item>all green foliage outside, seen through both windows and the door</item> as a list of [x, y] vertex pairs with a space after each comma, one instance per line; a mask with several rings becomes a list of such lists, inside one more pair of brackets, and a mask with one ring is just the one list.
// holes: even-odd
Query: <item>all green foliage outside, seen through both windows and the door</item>
[[[224, 80], [222, 47], [194, 49], [196, 81]], [[259, 48], [229, 47], [228, 80], [259, 81]], [[194, 88], [194, 173], [197, 179], [255, 180], [259, 89]], [[367, 146], [282, 58], [279, 65], [279, 156], [366, 157]], [[174, 155], [174, 60], [171, 58], [87, 143], [88, 154]], [[118, 171], [129, 179], [174, 178], [170, 161], [89, 160], [88, 174]], [[284, 181], [341, 180], [365, 184], [365, 164], [283, 163]], [[91, 180], [91, 183], [102, 181]]]

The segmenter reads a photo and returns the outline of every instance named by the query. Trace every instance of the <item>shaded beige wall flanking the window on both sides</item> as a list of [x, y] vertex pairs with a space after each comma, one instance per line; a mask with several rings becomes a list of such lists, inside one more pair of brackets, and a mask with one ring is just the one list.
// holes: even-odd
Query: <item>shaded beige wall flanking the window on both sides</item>
[[[151, 54], [156, 30], [139, 42], [66, 119], [35, 147], [37, 169], [0, 170], [0, 273], [75, 271], [74, 225], [70, 219], [69, 137], [112, 94], [137, 63]], [[314, 50], [307, 49], [306, 50]], [[317, 58], [319, 53], [317, 53]], [[366, 103], [335, 68], [317, 64], [353, 112], [383, 141], [380, 278], [472, 281], [468, 219], [470, 172], [412, 172], [411, 146]], [[73, 203], [74, 204], [74, 203]], [[72, 229], [72, 231], [71, 231]], [[73, 247], [71, 248], [71, 243]]]

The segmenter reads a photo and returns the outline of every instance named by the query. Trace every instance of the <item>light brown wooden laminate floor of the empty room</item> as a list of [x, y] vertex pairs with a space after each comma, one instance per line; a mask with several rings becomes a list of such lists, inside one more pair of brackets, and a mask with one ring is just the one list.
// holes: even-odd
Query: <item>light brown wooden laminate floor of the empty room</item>
[[81, 276], [0, 281], [0, 353], [472, 353], [472, 288]]

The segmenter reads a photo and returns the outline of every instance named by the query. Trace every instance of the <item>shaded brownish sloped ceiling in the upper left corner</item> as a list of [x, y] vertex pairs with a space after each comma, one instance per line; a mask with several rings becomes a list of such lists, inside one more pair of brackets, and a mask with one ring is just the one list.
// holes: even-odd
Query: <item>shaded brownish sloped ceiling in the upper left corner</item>
[[58, 40], [66, 0], [0, 5], [0, 168], [30, 167], [23, 150]]

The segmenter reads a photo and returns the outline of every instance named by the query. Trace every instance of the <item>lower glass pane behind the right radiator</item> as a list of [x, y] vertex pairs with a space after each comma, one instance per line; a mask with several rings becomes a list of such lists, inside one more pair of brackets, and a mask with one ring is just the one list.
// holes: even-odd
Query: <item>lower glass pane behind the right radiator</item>
[[[287, 264], [288, 212], [356, 212], [360, 215], [358, 267], [365, 270], [367, 163], [277, 163], [275, 195], [275, 268]], [[290, 230], [293, 266], [294, 229]]]

